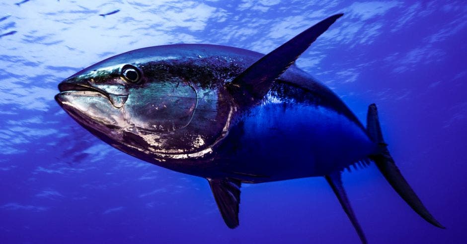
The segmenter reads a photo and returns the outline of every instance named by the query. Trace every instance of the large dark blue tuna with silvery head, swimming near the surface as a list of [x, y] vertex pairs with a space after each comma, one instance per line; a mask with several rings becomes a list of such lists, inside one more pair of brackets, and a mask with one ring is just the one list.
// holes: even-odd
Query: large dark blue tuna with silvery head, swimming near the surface
[[239, 225], [242, 184], [324, 177], [367, 243], [341, 173], [371, 162], [416, 213], [444, 228], [395, 165], [376, 105], [368, 107], [364, 126], [334, 92], [294, 64], [342, 15], [267, 55], [208, 44], [129, 51], [65, 79], [55, 100], [114, 148], [207, 179], [232, 229]]

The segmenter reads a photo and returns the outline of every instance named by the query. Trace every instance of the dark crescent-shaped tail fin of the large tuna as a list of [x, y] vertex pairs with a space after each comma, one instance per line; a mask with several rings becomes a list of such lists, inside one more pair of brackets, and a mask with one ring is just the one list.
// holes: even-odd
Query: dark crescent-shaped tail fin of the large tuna
[[380, 147], [380, 154], [371, 156], [371, 159], [375, 161], [376, 166], [394, 188], [394, 190], [404, 199], [405, 202], [423, 219], [428, 221], [430, 224], [445, 229], [425, 208], [423, 203], [420, 201], [418, 196], [413, 191], [412, 187], [405, 181], [404, 177], [400, 173], [399, 169], [394, 163], [387, 144], [384, 142], [383, 134], [381, 133], [380, 122], [378, 119], [378, 109], [375, 104], [371, 104], [368, 107], [367, 114], [367, 132]]

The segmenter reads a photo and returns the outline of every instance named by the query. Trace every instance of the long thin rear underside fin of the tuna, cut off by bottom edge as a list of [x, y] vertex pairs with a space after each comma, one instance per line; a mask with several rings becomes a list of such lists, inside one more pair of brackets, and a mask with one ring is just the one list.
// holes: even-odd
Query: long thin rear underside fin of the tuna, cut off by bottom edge
[[350, 202], [347, 198], [347, 194], [345, 193], [344, 187], [342, 186], [340, 172], [330, 174], [328, 176], [325, 176], [324, 178], [326, 178], [327, 183], [329, 183], [329, 185], [332, 188], [332, 191], [334, 191], [334, 194], [336, 194], [340, 205], [349, 217], [350, 222], [352, 222], [352, 225], [357, 231], [358, 237], [360, 238], [362, 243], [368, 243], [367, 239], [365, 238], [365, 234], [363, 233], [362, 227], [360, 226], [360, 224], [357, 221], [357, 218], [355, 217], [354, 211], [352, 210], [352, 206], [350, 206]]

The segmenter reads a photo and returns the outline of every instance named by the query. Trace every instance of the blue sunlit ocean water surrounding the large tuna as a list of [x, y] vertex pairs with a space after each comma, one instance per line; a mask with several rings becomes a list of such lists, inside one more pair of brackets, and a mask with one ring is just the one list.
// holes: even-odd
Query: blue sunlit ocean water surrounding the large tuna
[[415, 214], [372, 164], [343, 174], [367, 239], [466, 242], [465, 1], [16, 2], [0, 2], [1, 244], [360, 243], [324, 178], [243, 184], [230, 230], [205, 179], [112, 148], [54, 101], [61, 80], [113, 55], [176, 43], [268, 53], [339, 12], [297, 65], [361, 121], [378, 105], [396, 164], [447, 227]]

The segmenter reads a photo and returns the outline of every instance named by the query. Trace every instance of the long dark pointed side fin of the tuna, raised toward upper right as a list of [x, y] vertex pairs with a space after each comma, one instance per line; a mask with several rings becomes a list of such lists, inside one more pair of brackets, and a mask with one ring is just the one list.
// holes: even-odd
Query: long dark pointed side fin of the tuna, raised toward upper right
[[261, 100], [273, 82], [342, 15], [320, 21], [246, 68], [228, 84], [237, 105], [245, 107]]

